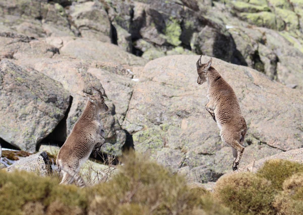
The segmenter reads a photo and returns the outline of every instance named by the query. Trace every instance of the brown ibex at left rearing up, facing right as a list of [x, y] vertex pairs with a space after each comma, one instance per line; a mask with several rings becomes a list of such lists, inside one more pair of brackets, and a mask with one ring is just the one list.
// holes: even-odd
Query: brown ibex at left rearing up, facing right
[[[59, 171], [65, 169], [77, 174], [92, 150], [94, 149], [93, 154], [96, 157], [104, 144], [104, 131], [101, 130], [99, 113], [108, 111], [108, 107], [101, 91], [92, 88], [97, 91], [96, 95], [84, 93], [88, 99], [85, 109], [58, 152], [56, 163]], [[64, 171], [60, 184], [70, 184], [73, 179], [72, 175]]]

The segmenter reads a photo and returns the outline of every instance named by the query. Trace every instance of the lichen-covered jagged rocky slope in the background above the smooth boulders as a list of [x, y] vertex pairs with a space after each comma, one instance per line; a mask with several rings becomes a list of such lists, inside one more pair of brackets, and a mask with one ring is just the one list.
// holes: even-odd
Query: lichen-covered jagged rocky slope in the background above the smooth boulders
[[[298, 0], [4, 0], [0, 28], [35, 38], [111, 42], [148, 60], [190, 53], [214, 56], [303, 89], [302, 8]], [[79, 42], [62, 51], [70, 53], [68, 47]], [[20, 48], [11, 46], [0, 58], [17, 57]], [[94, 47], [89, 42], [80, 46]], [[73, 54], [90, 57], [90, 49]]]

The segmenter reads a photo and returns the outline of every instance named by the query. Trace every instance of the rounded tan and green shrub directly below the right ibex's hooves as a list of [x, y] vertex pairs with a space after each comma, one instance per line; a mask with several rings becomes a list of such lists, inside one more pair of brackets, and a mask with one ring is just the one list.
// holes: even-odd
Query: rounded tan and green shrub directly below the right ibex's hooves
[[214, 197], [235, 214], [275, 214], [271, 202], [276, 191], [271, 182], [252, 172], [225, 174], [214, 187]]

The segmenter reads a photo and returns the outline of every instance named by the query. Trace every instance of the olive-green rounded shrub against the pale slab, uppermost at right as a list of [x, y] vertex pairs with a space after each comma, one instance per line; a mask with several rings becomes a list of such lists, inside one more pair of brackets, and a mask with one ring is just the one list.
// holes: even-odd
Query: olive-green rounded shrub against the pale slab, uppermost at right
[[303, 164], [297, 162], [272, 159], [266, 160], [257, 171], [257, 176], [271, 181], [271, 186], [277, 190], [282, 190], [283, 182], [293, 174], [303, 172]]

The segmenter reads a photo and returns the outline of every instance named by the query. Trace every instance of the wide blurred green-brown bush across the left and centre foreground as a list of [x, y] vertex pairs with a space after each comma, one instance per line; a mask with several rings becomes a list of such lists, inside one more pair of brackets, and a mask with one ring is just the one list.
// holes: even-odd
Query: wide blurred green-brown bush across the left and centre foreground
[[0, 171], [1, 214], [231, 214], [183, 176], [131, 154], [111, 181], [92, 187], [59, 185], [58, 178]]

